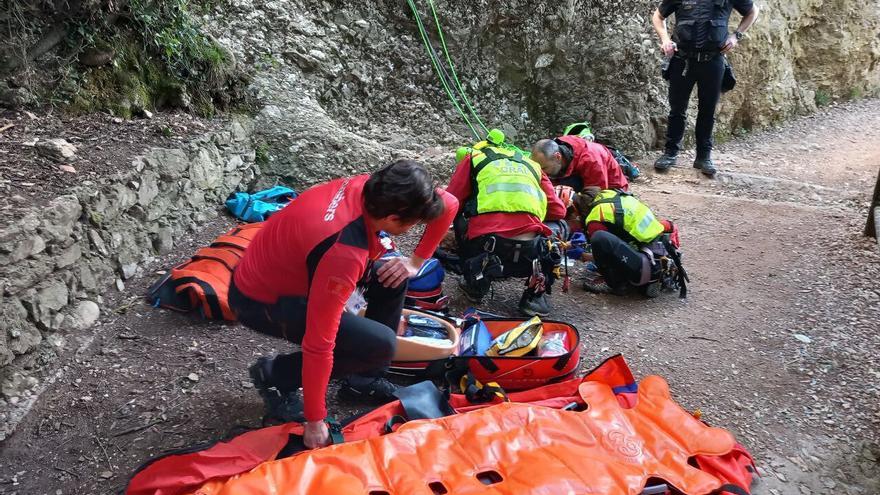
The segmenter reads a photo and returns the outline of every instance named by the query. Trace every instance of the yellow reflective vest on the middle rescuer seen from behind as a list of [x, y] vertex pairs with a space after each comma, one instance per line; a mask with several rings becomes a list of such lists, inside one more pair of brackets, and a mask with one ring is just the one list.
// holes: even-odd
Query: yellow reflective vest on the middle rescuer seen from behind
[[479, 150], [471, 163], [469, 215], [529, 213], [544, 220], [547, 195], [541, 189], [540, 165], [518, 151], [489, 146]]

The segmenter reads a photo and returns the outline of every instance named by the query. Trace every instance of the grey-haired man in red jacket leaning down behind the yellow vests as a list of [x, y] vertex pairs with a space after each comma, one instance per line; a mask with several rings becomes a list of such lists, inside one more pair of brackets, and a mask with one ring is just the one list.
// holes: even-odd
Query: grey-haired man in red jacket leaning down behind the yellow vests
[[532, 147], [532, 160], [541, 164], [553, 185], [570, 186], [576, 194], [629, 191], [629, 181], [611, 151], [580, 136], [542, 139]]

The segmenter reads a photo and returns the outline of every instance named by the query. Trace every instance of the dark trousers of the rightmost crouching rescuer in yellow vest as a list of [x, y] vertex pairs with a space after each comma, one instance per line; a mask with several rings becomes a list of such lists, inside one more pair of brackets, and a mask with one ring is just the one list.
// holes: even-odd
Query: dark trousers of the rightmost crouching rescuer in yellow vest
[[590, 237], [590, 246], [596, 268], [612, 289], [640, 285], [644, 275], [650, 276], [648, 256], [611, 232], [597, 231]]

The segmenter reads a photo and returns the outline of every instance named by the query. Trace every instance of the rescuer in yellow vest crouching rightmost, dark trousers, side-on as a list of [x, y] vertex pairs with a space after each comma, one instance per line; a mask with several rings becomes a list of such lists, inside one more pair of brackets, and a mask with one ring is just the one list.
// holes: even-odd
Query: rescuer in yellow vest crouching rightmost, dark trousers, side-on
[[[658, 219], [629, 193], [605, 190], [589, 204], [584, 223], [601, 275], [588, 278], [585, 290], [623, 295], [639, 287], [648, 297], [660, 295], [661, 267], [653, 248], [665, 234], [671, 246], [679, 247], [678, 228], [672, 222]], [[658, 249], [666, 254], [665, 247]]]

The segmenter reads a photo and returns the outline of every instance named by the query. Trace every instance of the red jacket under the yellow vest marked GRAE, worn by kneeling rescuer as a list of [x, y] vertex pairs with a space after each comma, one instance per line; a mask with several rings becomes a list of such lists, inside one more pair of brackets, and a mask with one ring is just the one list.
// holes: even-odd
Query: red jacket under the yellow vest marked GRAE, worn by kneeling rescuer
[[[547, 178], [547, 174], [541, 174], [541, 190], [547, 195], [547, 215], [545, 220], [560, 220], [565, 218], [565, 205], [556, 191], [553, 183]], [[458, 167], [449, 180], [446, 192], [458, 199], [459, 207], [462, 207], [472, 193], [471, 187], [471, 157], [465, 157], [458, 163]], [[468, 239], [475, 239], [481, 235], [497, 234], [501, 237], [516, 237], [521, 234], [535, 232], [550, 235], [550, 229], [541, 222], [541, 219], [530, 213], [483, 213], [471, 217], [468, 221]]]

